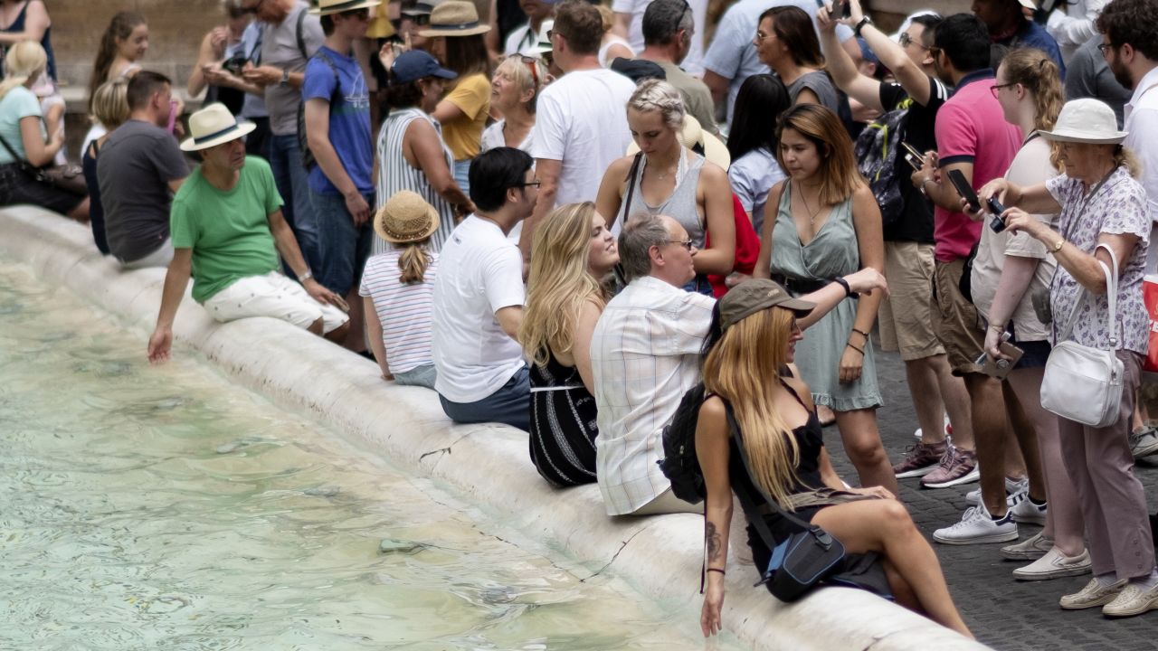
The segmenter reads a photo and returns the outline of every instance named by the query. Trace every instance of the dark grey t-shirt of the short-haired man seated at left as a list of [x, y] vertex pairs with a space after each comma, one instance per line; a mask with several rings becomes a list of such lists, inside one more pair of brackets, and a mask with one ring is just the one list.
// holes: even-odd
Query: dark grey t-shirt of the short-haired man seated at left
[[185, 156], [160, 126], [131, 119], [109, 136], [96, 161], [96, 177], [112, 255], [135, 262], [164, 243], [173, 203], [169, 182], [186, 176]]

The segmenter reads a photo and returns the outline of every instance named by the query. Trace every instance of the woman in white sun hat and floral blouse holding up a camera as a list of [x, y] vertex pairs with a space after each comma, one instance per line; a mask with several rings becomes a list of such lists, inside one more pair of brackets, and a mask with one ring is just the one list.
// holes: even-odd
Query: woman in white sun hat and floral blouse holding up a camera
[[[1006, 206], [1005, 225], [1039, 240], [1057, 259], [1050, 285], [1053, 337], [1114, 351], [1121, 363], [1121, 404], [1105, 426], [1058, 416], [1062, 453], [1077, 488], [1085, 519], [1093, 579], [1082, 591], [1062, 597], [1068, 609], [1102, 606], [1109, 616], [1138, 615], [1158, 608], [1158, 572], [1145, 495], [1134, 476], [1128, 436], [1138, 388], [1142, 356], [1149, 343], [1149, 320], [1142, 301], [1151, 215], [1145, 190], [1135, 180], [1138, 166], [1122, 147], [1114, 111], [1098, 100], [1068, 102], [1053, 131], [1039, 131], [1058, 142], [1065, 174], [1021, 188], [1004, 178], [987, 183], [979, 195]], [[1055, 231], [1033, 214], [1061, 213]], [[1107, 273], [1120, 275], [1114, 297]], [[1114, 275], [1111, 275], [1114, 276]], [[1116, 320], [1107, 319], [1115, 309]], [[1111, 327], [1107, 327], [1111, 322]], [[1051, 357], [1057, 354], [1057, 349]], [[1046, 368], [1049, 385], [1050, 367]], [[1046, 402], [1043, 389], [1043, 402]], [[1055, 408], [1055, 411], [1057, 409]]]

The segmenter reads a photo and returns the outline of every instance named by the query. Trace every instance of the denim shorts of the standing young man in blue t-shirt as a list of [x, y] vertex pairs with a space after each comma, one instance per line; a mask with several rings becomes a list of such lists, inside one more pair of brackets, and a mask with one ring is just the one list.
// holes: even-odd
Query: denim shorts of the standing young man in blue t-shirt
[[361, 226], [346, 210], [342, 195], [321, 195], [309, 191], [310, 205], [317, 219], [317, 243], [322, 256], [322, 271], [317, 281], [339, 297], [350, 293], [361, 278], [369, 247], [374, 241], [374, 193], [364, 195], [371, 207], [371, 219]]

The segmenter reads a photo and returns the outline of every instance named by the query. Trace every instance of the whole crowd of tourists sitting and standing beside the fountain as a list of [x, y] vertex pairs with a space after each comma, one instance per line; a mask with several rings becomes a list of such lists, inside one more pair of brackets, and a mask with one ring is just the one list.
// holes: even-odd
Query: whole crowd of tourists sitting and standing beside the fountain
[[[223, 0], [188, 120], [120, 12], [80, 190], [44, 5], [0, 1], [0, 205], [167, 269], [151, 360], [192, 280], [218, 321], [287, 321], [528, 432], [608, 515], [704, 513], [705, 635], [733, 492], [757, 573], [820, 527], [845, 550], [822, 583], [970, 635], [899, 480], [977, 482], [933, 541], [1091, 575], [1062, 608], [1158, 609], [1133, 471], [1158, 453], [1158, 0], [975, 0], [895, 34], [858, 0]], [[900, 459], [877, 346], [917, 418]], [[1063, 375], [1082, 354], [1101, 402]], [[703, 500], [658, 463], [681, 432]]]

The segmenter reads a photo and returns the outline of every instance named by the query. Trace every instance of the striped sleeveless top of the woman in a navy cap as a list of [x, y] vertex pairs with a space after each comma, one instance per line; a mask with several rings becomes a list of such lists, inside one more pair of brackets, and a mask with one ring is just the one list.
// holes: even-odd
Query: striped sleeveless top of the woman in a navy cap
[[[410, 123], [416, 119], [430, 122], [434, 131], [438, 132], [439, 138], [442, 136], [441, 125], [420, 109], [391, 110], [390, 115], [386, 117], [386, 122], [382, 123], [382, 130], [378, 134], [378, 199], [384, 204], [398, 190], [410, 190], [417, 192], [418, 196], [426, 199], [427, 204], [434, 206], [434, 210], [438, 211], [440, 224], [438, 231], [431, 235], [431, 241], [426, 248], [438, 253], [442, 250], [442, 244], [450, 236], [450, 232], [454, 231], [454, 206], [444, 199], [442, 195], [438, 193], [438, 190], [431, 186], [426, 173], [412, 167], [402, 153], [402, 139], [406, 134]], [[442, 153], [446, 156], [447, 169], [453, 170], [454, 156], [450, 155], [450, 149], [441, 140], [439, 140], [439, 145], [442, 147]], [[386, 240], [381, 237], [374, 239], [374, 255], [379, 255], [390, 248], [390, 244]]]

